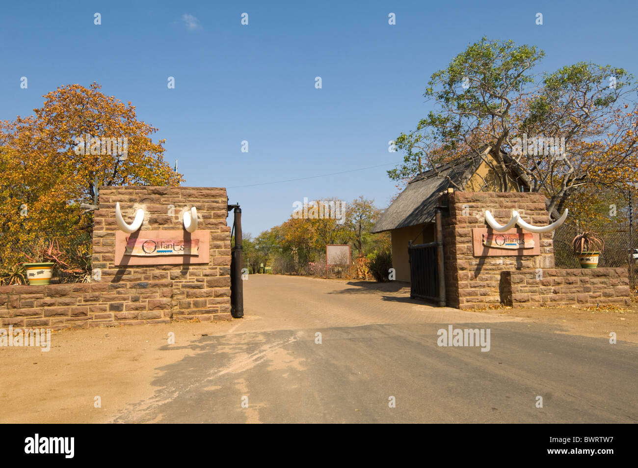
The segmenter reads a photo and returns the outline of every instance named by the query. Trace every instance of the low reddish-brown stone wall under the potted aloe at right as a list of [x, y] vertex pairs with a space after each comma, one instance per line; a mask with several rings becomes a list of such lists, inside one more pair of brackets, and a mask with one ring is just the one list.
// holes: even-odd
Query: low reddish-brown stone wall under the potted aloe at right
[[555, 305], [630, 305], [626, 268], [502, 271], [503, 304], [514, 307]]

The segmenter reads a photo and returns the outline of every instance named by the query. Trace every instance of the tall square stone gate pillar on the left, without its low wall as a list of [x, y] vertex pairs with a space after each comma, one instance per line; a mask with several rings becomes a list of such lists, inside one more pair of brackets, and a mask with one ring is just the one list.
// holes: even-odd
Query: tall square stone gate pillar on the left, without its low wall
[[[131, 222], [145, 211], [145, 230], [184, 230], [182, 214], [197, 208], [198, 230], [207, 230], [208, 264], [115, 264], [115, 204]], [[170, 319], [230, 319], [230, 227], [226, 225], [224, 188], [168, 186], [105, 186], [94, 212], [93, 270], [108, 283], [101, 301], [114, 321], [168, 322]], [[171, 209], [172, 208], [172, 209]]]

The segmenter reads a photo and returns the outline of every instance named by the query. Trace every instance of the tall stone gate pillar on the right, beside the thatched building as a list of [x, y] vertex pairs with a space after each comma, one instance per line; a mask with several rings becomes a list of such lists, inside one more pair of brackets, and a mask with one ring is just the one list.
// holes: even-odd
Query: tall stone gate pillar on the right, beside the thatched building
[[472, 229], [485, 228], [486, 209], [504, 224], [516, 209], [523, 220], [546, 225], [549, 215], [545, 197], [539, 193], [454, 192], [445, 193], [443, 256], [447, 305], [461, 309], [484, 308], [501, 302], [501, 271], [554, 268], [553, 233], [539, 234], [540, 255], [474, 257]]

